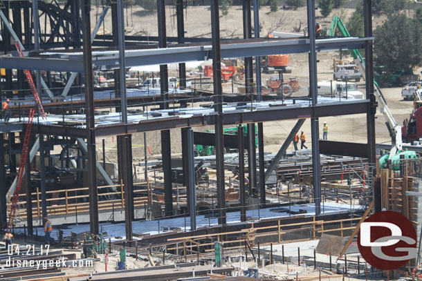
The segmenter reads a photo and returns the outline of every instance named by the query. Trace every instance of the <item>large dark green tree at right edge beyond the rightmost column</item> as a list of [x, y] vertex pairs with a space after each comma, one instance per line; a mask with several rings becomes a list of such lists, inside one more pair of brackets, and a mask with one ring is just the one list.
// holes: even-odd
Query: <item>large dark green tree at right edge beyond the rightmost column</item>
[[422, 26], [405, 14], [392, 14], [374, 32], [374, 55], [387, 72], [410, 73], [422, 63]]

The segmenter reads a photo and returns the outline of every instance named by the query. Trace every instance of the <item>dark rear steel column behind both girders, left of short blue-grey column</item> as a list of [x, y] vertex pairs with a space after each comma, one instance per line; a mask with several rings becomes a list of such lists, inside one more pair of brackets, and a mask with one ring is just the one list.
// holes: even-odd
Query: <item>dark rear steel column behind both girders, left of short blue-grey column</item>
[[[167, 48], [165, 28], [165, 1], [157, 0], [158, 11], [158, 47]], [[167, 64], [160, 65], [161, 109], [169, 108], [169, 73]], [[163, 157], [165, 215], [173, 215], [172, 191], [172, 149], [170, 130], [161, 131], [161, 155]]]

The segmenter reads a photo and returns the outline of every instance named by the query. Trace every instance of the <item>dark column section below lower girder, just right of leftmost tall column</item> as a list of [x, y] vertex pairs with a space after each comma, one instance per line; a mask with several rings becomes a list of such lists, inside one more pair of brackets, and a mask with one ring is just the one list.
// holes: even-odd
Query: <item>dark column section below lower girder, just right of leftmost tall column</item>
[[132, 177], [132, 146], [131, 135], [119, 135], [122, 146], [122, 171], [123, 184], [125, 185], [125, 229], [126, 239], [133, 240], [132, 220], [134, 212], [134, 178]]

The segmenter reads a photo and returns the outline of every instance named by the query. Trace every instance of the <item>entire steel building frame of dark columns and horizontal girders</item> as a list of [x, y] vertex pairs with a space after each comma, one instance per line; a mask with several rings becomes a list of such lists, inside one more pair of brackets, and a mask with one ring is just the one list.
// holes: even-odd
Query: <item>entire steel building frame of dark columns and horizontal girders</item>
[[[4, 1], [3, 1], [4, 2]], [[366, 155], [370, 163], [375, 161], [375, 130], [374, 130], [374, 115], [376, 110], [376, 101], [374, 97], [374, 86], [368, 81], [373, 81], [373, 55], [372, 55], [372, 41], [374, 37], [371, 34], [371, 1], [364, 0], [364, 22], [365, 22], [365, 37], [349, 37], [349, 38], [333, 38], [333, 39], [315, 39], [315, 1], [308, 0], [307, 5], [307, 16], [308, 16], [308, 30], [309, 37], [298, 37], [295, 39], [255, 39], [251, 38], [251, 19], [250, 19], [250, 0], [245, 1], [243, 5], [244, 12], [244, 39], [235, 39], [235, 40], [224, 40], [221, 41], [219, 37], [219, 6], [217, 0], [211, 1], [211, 43], [208, 39], [190, 39], [184, 37], [184, 26], [183, 26], [183, 1], [176, 1], [177, 6], [177, 21], [178, 21], [178, 37], [167, 38], [165, 32], [165, 1], [157, 0], [158, 8], [158, 41], [157, 45], [142, 46], [143, 37], [127, 37], [122, 36], [122, 22], [124, 14], [122, 12], [122, 0], [118, 0], [116, 3], [111, 4], [111, 12], [113, 19], [113, 35], [111, 37], [102, 36], [98, 37], [97, 41], [93, 41], [94, 46], [101, 44], [102, 39], [113, 39], [112, 43], [109, 41], [103, 41], [104, 46], [118, 46], [119, 50], [103, 48], [101, 50], [91, 50], [91, 23], [89, 21], [90, 16], [90, 1], [82, 1], [81, 7], [78, 5], [77, 0], [68, 0], [66, 2], [66, 9], [60, 10], [59, 8], [53, 8], [49, 6], [48, 14], [67, 14], [68, 8], [71, 8], [75, 11], [73, 14], [82, 14], [82, 19], [77, 17], [66, 17], [68, 21], [72, 21], [72, 28], [65, 26], [66, 34], [64, 38], [72, 38], [76, 41], [68, 46], [74, 48], [80, 48], [82, 43], [84, 45], [82, 50], [46, 50], [45, 48], [57, 47], [49, 46], [48, 43], [53, 43], [53, 41], [42, 40], [39, 43], [39, 26], [34, 24], [33, 26], [28, 26], [26, 29], [26, 41], [28, 45], [28, 52], [26, 57], [16, 57], [12, 53], [10, 55], [10, 37], [6, 36], [6, 44], [3, 48], [4, 52], [7, 52], [7, 55], [0, 56], [0, 68], [8, 69], [10, 74], [11, 69], [17, 70], [47, 70], [47, 71], [61, 71], [61, 72], [84, 72], [85, 75], [85, 101], [86, 101], [86, 128], [77, 128], [69, 126], [59, 126], [59, 125], [48, 125], [48, 124], [33, 124], [34, 131], [42, 135], [61, 135], [69, 137], [80, 137], [88, 140], [87, 148], [87, 157], [89, 159], [89, 188], [90, 188], [90, 200], [91, 200], [91, 233], [98, 234], [98, 201], [96, 200], [96, 175], [95, 175], [95, 137], [106, 136], [106, 135], [120, 135], [119, 145], [120, 157], [119, 160], [122, 167], [126, 169], [126, 173], [122, 175], [122, 179], [125, 181], [125, 186], [127, 186], [127, 194], [131, 194], [131, 180], [130, 180], [130, 171], [131, 167], [131, 134], [139, 132], [147, 132], [149, 130], [161, 130], [162, 136], [161, 139], [165, 142], [165, 146], [162, 147], [163, 159], [167, 164], [165, 164], [165, 206], [166, 214], [172, 215], [172, 184], [169, 182], [169, 169], [171, 164], [169, 159], [171, 159], [171, 151], [169, 148], [169, 129], [170, 128], [190, 128], [193, 126], [205, 126], [213, 125], [215, 126], [215, 144], [216, 144], [216, 159], [217, 159], [217, 206], [219, 211], [219, 224], [224, 226], [226, 224], [226, 209], [225, 209], [225, 183], [224, 183], [224, 163], [223, 163], [223, 148], [224, 148], [224, 137], [223, 137], [223, 126], [228, 124], [253, 124], [255, 122], [268, 122], [272, 120], [282, 120], [282, 119], [311, 119], [311, 129], [312, 129], [312, 144], [313, 144], [313, 178], [314, 178], [314, 196], [315, 196], [315, 211], [317, 215], [320, 211], [320, 206], [318, 200], [320, 200], [320, 162], [319, 162], [319, 142], [318, 142], [318, 118], [327, 117], [333, 115], [351, 115], [365, 113], [367, 115], [367, 144], [364, 145], [366, 148]], [[40, 2], [36, 2], [40, 3]], [[256, 2], [255, 2], [256, 3]], [[37, 5], [33, 5], [35, 7]], [[39, 9], [46, 10], [44, 4], [39, 6]], [[57, 10], [59, 9], [59, 10]], [[6, 9], [7, 10], [7, 9]], [[47, 11], [47, 10], [46, 10]], [[36, 14], [35, 11], [33, 11]], [[258, 16], [258, 10], [255, 10], [255, 17]], [[28, 14], [28, 12], [26, 12]], [[8, 13], [6, 14], [8, 17]], [[29, 14], [28, 14], [28, 17]], [[28, 19], [24, 19], [28, 21]], [[60, 22], [55, 23], [56, 26], [62, 25]], [[16, 24], [15, 24], [16, 26]], [[14, 28], [15, 28], [14, 26]], [[28, 30], [29, 29], [29, 30]], [[3, 28], [4, 30], [4, 28]], [[31, 31], [33, 30], [33, 32]], [[81, 32], [82, 31], [82, 32]], [[32, 35], [39, 35], [38, 38], [35, 38], [35, 48], [33, 47], [32, 40], [28, 41], [28, 38]], [[120, 34], [120, 36], [119, 36]], [[3, 32], [4, 35], [4, 32]], [[52, 33], [51, 36], [59, 36], [55, 33]], [[22, 36], [19, 34], [20, 39]], [[62, 36], [62, 35], [60, 35]], [[59, 36], [59, 37], [60, 37]], [[5, 38], [5, 37], [3, 37]], [[45, 38], [45, 36], [44, 36]], [[82, 39], [82, 41], [81, 41]], [[150, 37], [149, 39], [152, 39]], [[8, 41], [9, 40], [9, 41]], [[131, 43], [136, 45], [136, 48], [125, 48], [125, 41], [131, 40]], [[178, 44], [173, 44], [167, 46], [167, 42], [177, 41]], [[190, 44], [186, 42], [195, 41], [196, 43]], [[8, 44], [9, 43], [9, 44]], [[183, 45], [180, 45], [183, 44]], [[9, 46], [8, 46], [9, 45]], [[54, 45], [54, 44], [53, 44]], [[58, 44], [60, 45], [60, 44]], [[66, 47], [68, 47], [66, 46]], [[330, 104], [318, 104], [317, 100], [317, 59], [316, 54], [318, 52], [332, 51], [332, 50], [349, 50], [349, 49], [365, 49], [365, 59], [366, 59], [366, 72], [365, 80], [367, 81], [366, 88], [366, 99], [341, 103], [333, 102]], [[284, 107], [273, 107], [265, 108], [260, 110], [252, 110], [250, 112], [245, 111], [230, 111], [223, 113], [223, 96], [221, 90], [221, 59], [222, 58], [232, 58], [232, 57], [246, 57], [246, 79], [248, 79], [247, 84], [250, 81], [253, 81], [253, 73], [249, 67], [251, 64], [252, 57], [266, 56], [266, 55], [277, 55], [277, 54], [293, 54], [293, 53], [308, 53], [309, 54], [309, 84], [310, 84], [310, 98], [311, 105], [307, 107], [299, 106], [284, 106]], [[249, 59], [250, 58], [250, 59]], [[160, 75], [162, 78], [167, 75], [166, 64], [178, 63], [181, 64], [181, 83], [185, 80], [185, 71], [183, 63], [186, 61], [203, 61], [206, 59], [213, 60], [214, 67], [214, 113], [206, 115], [193, 115], [191, 117], [168, 117], [162, 119], [149, 119], [139, 122], [137, 124], [127, 122], [127, 97], [125, 95], [125, 67], [131, 66], [143, 66], [149, 64], [160, 64]], [[123, 66], [122, 68], [122, 65]], [[116, 83], [116, 92], [120, 97], [120, 105], [116, 104], [116, 109], [120, 110], [123, 113], [122, 123], [111, 124], [104, 126], [96, 126], [93, 114], [94, 100], [93, 100], [93, 90], [92, 90], [92, 70], [94, 69], [114, 69], [117, 72], [121, 72]], [[123, 69], [123, 71], [122, 71]], [[260, 77], [257, 81], [260, 83]], [[161, 104], [162, 109], [168, 108], [168, 88], [165, 88], [165, 83], [161, 88], [161, 101], [164, 103]], [[39, 86], [39, 75], [37, 75], [37, 86]], [[247, 92], [249, 93], [249, 92]], [[253, 95], [250, 96], [253, 99]], [[257, 99], [262, 100], [262, 95], [258, 93]], [[250, 126], [251, 127], [251, 126]], [[0, 142], [0, 151], [4, 149], [3, 147], [3, 133], [10, 133], [16, 130], [23, 130], [24, 124], [11, 124], [11, 125], [0, 125], [1, 133], [1, 142]], [[189, 131], [190, 132], [190, 131]], [[185, 136], [189, 140], [189, 146], [194, 143], [192, 141], [193, 135]], [[255, 136], [254, 136], [255, 137]], [[239, 144], [243, 146], [244, 144]], [[338, 144], [341, 145], [341, 144]], [[255, 147], [255, 146], [254, 146]], [[185, 151], [190, 151], [189, 147], [185, 147]], [[262, 154], [264, 151], [263, 136], [262, 136], [262, 124], [259, 128], [259, 154]], [[253, 154], [253, 153], [251, 153]], [[190, 151], [190, 157], [186, 157], [185, 168], [192, 169], [192, 155]], [[253, 157], [255, 158], [255, 157]], [[262, 165], [262, 162], [260, 165]], [[250, 166], [255, 166], [256, 163], [250, 164]], [[264, 169], [261, 169], [264, 171]], [[3, 175], [6, 173], [4, 164], [0, 162], [0, 174]], [[190, 171], [190, 176], [192, 176], [192, 171]], [[256, 174], [252, 175], [254, 181], [256, 181]], [[132, 179], [133, 180], [133, 179]], [[188, 179], [187, 179], [188, 180]], [[192, 179], [190, 179], [190, 182]], [[262, 173], [259, 179], [259, 185], [261, 186], [261, 193], [264, 191], [265, 177]], [[255, 183], [254, 183], [255, 184]], [[190, 184], [191, 185], [191, 184]], [[192, 186], [192, 185], [191, 185]], [[6, 188], [2, 188], [6, 190]], [[264, 195], [263, 195], [264, 196]], [[190, 206], [195, 206], [194, 195], [190, 196]], [[5, 194], [0, 195], [0, 211], [3, 214], [5, 206]], [[129, 218], [127, 220], [127, 238], [131, 239], [131, 213], [133, 213], [133, 204], [131, 204], [131, 198], [128, 196], [126, 198], [127, 211], [126, 216]], [[242, 199], [242, 201], [244, 201]], [[264, 201], [264, 202], [263, 202]], [[261, 200], [262, 204], [265, 204], [265, 198]], [[376, 205], [377, 206], [377, 205]], [[43, 205], [44, 209], [44, 205]], [[190, 210], [191, 213], [194, 213], [194, 210]], [[4, 222], [6, 217], [1, 216], [1, 221]]]

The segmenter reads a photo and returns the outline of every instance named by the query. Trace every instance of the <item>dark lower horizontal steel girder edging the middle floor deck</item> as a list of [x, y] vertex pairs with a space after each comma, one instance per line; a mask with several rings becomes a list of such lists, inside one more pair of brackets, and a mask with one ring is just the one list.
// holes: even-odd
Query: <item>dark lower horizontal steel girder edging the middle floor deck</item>
[[[327, 117], [367, 113], [369, 100], [317, 104], [317, 106], [275, 106], [255, 111], [233, 110], [223, 115], [224, 125], [266, 122], [283, 119], [303, 119], [311, 117]], [[107, 135], [123, 135], [169, 128], [185, 128], [193, 126], [214, 125], [217, 113], [208, 115], [192, 115], [192, 117], [168, 117], [149, 119], [132, 124], [109, 124], [95, 127], [97, 137]], [[34, 130], [46, 135], [63, 135], [70, 137], [86, 137], [86, 128], [59, 125], [33, 124]]]

